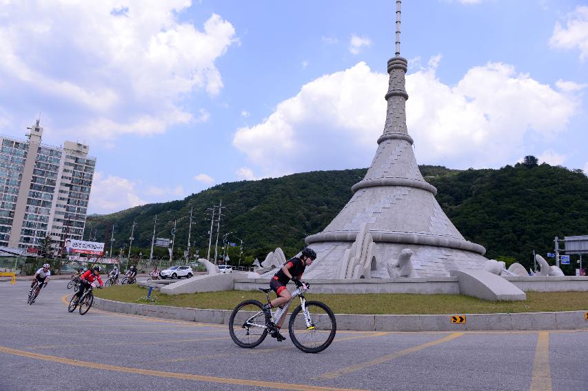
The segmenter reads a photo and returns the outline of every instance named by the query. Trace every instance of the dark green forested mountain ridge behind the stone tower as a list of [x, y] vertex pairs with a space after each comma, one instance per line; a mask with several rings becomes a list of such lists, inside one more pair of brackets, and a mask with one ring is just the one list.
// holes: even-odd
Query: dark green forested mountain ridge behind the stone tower
[[[438, 189], [437, 199], [463, 236], [487, 249], [486, 257], [510, 257], [532, 265], [532, 250], [544, 254], [553, 250], [555, 236], [588, 234], [588, 177], [581, 170], [567, 170], [536, 161], [505, 166], [499, 170], [449, 170], [420, 166], [427, 181]], [[90, 218], [89, 235], [110, 246], [114, 224], [114, 254], [128, 245], [136, 221], [133, 253], [148, 255], [157, 214], [156, 237], [171, 237], [174, 219], [176, 250], [187, 245], [188, 218], [194, 208], [192, 246], [205, 255], [213, 203], [222, 200], [221, 237], [243, 239], [248, 261], [265, 257], [276, 247], [292, 256], [304, 245], [304, 238], [320, 232], [352, 196], [351, 186], [363, 179], [365, 169], [316, 171], [276, 179], [223, 183], [192, 194], [181, 201], [142, 205]], [[212, 244], [216, 239], [214, 229]], [[219, 248], [221, 239], [219, 239]], [[213, 250], [214, 251], [214, 250]], [[220, 251], [220, 250], [219, 250]], [[160, 256], [166, 254], [159, 249]], [[231, 259], [239, 254], [230, 248]], [[586, 257], [588, 264], [588, 257]], [[575, 265], [573, 265], [575, 267]], [[568, 271], [571, 272], [571, 270]]]

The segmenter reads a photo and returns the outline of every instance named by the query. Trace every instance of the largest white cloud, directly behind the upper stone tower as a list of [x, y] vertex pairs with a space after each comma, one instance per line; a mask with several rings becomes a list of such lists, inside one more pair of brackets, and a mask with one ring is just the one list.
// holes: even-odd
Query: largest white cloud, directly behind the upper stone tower
[[[233, 145], [264, 176], [369, 166], [387, 86], [388, 75], [363, 62], [319, 77], [261, 123], [238, 129]], [[407, 75], [406, 87], [417, 161], [452, 168], [504, 166], [527, 153], [527, 138], [565, 130], [578, 107], [574, 97], [503, 63], [471, 68], [455, 86], [428, 68]]]

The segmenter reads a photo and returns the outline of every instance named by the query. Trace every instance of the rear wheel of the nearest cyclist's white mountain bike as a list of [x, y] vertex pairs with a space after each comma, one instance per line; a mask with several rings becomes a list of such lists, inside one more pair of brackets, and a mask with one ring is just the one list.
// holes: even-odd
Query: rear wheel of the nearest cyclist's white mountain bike
[[233, 310], [229, 333], [233, 342], [241, 348], [255, 348], [267, 336], [262, 307], [257, 300], [245, 300]]

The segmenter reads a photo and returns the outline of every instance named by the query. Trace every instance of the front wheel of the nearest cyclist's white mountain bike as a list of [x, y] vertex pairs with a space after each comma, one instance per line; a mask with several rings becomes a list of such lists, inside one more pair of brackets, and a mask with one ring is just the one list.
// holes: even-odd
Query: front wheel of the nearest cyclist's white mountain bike
[[[306, 314], [302, 305], [298, 305], [290, 315], [290, 339], [296, 348], [306, 353], [318, 353], [325, 350], [335, 338], [337, 323], [332, 310], [320, 301], [307, 301]], [[307, 325], [310, 323], [310, 326]]]

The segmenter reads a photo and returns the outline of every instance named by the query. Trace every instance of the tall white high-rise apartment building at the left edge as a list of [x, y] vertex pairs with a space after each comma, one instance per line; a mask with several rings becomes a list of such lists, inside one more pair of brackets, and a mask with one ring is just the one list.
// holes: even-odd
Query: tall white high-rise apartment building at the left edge
[[81, 143], [42, 144], [39, 121], [28, 129], [26, 140], [0, 134], [0, 246], [82, 239], [96, 158]]

